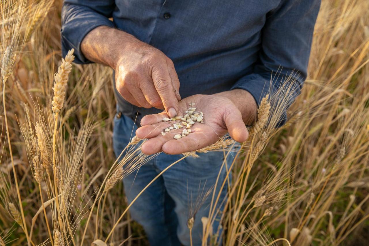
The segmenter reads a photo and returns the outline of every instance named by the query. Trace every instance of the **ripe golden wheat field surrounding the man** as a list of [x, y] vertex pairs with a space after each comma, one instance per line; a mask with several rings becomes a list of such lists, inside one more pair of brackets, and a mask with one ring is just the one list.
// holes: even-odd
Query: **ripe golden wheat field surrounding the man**
[[[120, 181], [155, 155], [134, 137], [115, 160], [112, 71], [61, 57], [61, 5], [1, 0], [0, 245], [148, 245]], [[237, 156], [232, 180], [215, 184], [230, 183], [227, 201], [213, 189], [189, 204], [187, 226], [193, 233], [201, 219], [203, 245], [366, 245], [368, 13], [368, 0], [322, 1], [308, 78], [284, 126], [287, 83], [263, 98], [239, 151], [224, 137], [183, 154]], [[197, 218], [208, 196], [209, 216]], [[214, 235], [216, 204], [225, 209]]]

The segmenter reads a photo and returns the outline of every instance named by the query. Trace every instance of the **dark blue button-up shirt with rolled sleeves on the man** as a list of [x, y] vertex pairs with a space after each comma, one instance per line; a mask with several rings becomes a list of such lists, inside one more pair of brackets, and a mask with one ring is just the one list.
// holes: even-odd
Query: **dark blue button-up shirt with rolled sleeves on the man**
[[[292, 103], [307, 76], [319, 8], [320, 0], [65, 0], [62, 51], [74, 48], [75, 62], [90, 63], [80, 44], [93, 28], [107, 25], [172, 59], [182, 98], [244, 89], [259, 103], [293, 75]], [[137, 110], [139, 118], [161, 112], [117, 98], [129, 117]]]

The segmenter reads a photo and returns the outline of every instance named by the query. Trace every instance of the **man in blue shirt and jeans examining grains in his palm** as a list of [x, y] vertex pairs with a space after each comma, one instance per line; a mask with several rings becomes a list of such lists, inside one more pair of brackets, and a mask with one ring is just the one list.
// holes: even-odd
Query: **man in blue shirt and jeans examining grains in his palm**
[[[245, 141], [245, 124], [254, 122], [260, 100], [292, 74], [293, 101], [306, 78], [319, 7], [320, 0], [64, 1], [63, 54], [74, 48], [75, 62], [114, 69], [115, 154], [130, 141], [132, 128], [138, 137], [149, 138], [143, 153], [166, 153], [124, 179], [128, 202], [179, 154], [208, 146], [227, 132]], [[280, 75], [270, 81], [277, 71]], [[196, 102], [206, 124], [175, 140], [162, 136], [157, 126], [167, 115], [182, 115], [188, 104], [181, 97]], [[137, 112], [140, 128], [134, 124]], [[223, 160], [220, 152], [185, 158], [139, 197], [130, 212], [151, 245], [190, 244], [188, 198], [211, 189], [218, 172], [226, 177]], [[224, 187], [221, 199], [226, 191]], [[200, 219], [208, 216], [210, 202], [211, 196], [196, 214], [194, 245], [201, 245]]]

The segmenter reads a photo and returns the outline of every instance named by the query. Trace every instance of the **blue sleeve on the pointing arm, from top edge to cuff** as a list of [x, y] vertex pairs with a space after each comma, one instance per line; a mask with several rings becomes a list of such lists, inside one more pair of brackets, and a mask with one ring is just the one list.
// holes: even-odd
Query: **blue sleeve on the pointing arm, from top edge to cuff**
[[91, 63], [81, 52], [83, 38], [96, 27], [114, 27], [109, 20], [115, 8], [114, 0], [65, 0], [62, 7], [62, 53], [74, 49], [75, 62]]

